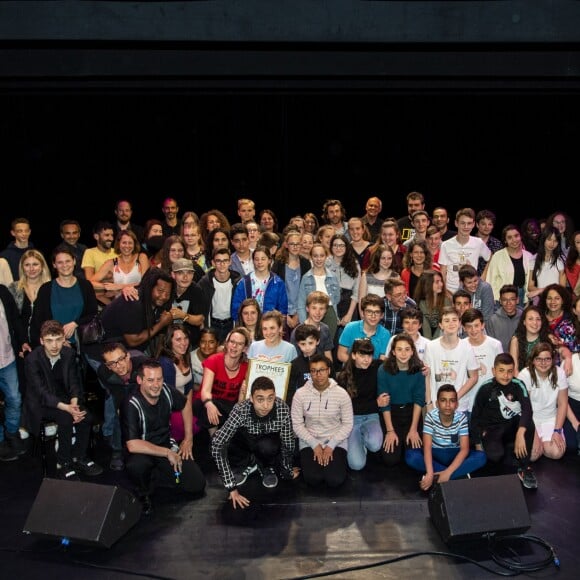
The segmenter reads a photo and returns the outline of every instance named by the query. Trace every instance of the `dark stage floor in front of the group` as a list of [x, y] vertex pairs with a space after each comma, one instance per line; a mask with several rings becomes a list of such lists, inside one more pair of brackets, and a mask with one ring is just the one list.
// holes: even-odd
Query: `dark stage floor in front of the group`
[[[65, 548], [59, 537], [24, 534], [42, 484], [40, 457], [29, 453], [0, 463], [2, 577], [474, 579], [510, 573], [493, 561], [484, 538], [454, 545], [442, 540], [418, 475], [406, 466], [387, 469], [371, 457], [363, 471], [349, 474], [334, 491], [313, 490], [302, 479], [268, 490], [254, 475], [244, 486], [252, 506], [234, 512], [204, 452], [206, 444], [200, 440], [199, 445], [208, 479], [205, 496], [185, 501], [161, 490], [154, 496], [153, 513], [142, 516], [110, 548], [75, 541]], [[108, 463], [99, 440], [94, 454]], [[531, 519], [526, 534], [547, 542], [561, 562], [559, 572], [550, 565], [541, 576], [576, 577], [580, 458], [543, 459], [535, 467], [539, 488], [523, 490]], [[124, 472], [106, 470], [90, 481], [129, 487]], [[526, 565], [546, 558], [541, 545], [518, 545]]]

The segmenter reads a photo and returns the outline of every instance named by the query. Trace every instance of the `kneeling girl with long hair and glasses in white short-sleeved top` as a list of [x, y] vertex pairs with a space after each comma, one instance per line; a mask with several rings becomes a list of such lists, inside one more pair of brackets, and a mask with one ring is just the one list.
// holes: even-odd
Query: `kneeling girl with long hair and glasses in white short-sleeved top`
[[549, 342], [540, 342], [532, 348], [518, 379], [528, 390], [536, 427], [530, 460], [537, 461], [542, 455], [560, 459], [566, 451], [563, 427], [568, 409], [568, 382], [564, 370], [556, 365]]

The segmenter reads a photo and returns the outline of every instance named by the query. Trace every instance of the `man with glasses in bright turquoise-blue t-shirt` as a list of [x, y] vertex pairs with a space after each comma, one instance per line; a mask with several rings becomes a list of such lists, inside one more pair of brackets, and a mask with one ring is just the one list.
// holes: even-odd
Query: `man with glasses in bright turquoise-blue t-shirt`
[[387, 345], [391, 333], [381, 325], [381, 319], [385, 310], [383, 298], [377, 294], [367, 294], [361, 299], [362, 320], [349, 322], [342, 331], [336, 356], [341, 363], [345, 363], [352, 350], [352, 345], [357, 339], [368, 339], [374, 347], [373, 358], [385, 358]]

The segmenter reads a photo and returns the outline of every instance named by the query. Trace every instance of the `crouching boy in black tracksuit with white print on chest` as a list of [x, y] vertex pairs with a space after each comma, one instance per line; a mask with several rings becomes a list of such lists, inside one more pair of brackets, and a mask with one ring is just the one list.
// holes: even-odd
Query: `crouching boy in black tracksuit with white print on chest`
[[497, 465], [513, 443], [518, 477], [524, 487], [535, 489], [538, 482], [530, 465], [535, 427], [532, 404], [526, 386], [514, 378], [515, 363], [507, 353], [498, 354], [493, 378], [479, 389], [471, 413], [471, 438], [475, 449], [485, 451]]

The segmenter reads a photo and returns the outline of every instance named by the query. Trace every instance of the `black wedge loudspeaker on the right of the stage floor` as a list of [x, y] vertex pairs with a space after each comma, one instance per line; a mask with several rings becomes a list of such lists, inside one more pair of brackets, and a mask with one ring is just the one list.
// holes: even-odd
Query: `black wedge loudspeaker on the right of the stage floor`
[[433, 488], [428, 505], [446, 543], [521, 534], [532, 525], [517, 475], [447, 481]]

